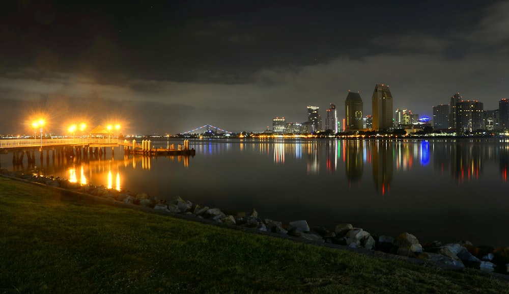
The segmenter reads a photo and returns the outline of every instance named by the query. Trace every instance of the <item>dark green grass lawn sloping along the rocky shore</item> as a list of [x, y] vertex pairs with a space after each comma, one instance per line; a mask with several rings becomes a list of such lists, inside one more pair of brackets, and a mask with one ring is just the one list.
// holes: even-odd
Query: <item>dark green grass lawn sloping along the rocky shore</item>
[[0, 177], [0, 293], [509, 293], [509, 281], [89, 204]]

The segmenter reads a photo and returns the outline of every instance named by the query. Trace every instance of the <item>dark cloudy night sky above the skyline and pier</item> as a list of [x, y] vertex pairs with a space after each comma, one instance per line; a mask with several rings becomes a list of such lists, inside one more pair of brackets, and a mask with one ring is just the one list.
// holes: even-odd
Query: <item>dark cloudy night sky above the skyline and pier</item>
[[509, 98], [507, 1], [3, 1], [0, 133], [119, 121], [124, 133], [264, 130], [375, 84], [432, 116]]

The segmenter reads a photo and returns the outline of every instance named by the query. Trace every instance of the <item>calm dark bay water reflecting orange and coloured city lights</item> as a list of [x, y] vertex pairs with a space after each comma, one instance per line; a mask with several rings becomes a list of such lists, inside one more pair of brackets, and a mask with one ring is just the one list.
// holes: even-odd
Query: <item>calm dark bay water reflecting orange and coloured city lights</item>
[[[182, 141], [153, 141], [166, 147]], [[194, 157], [52, 158], [2, 168], [40, 170], [161, 199], [333, 229], [351, 223], [373, 234], [410, 232], [421, 243], [470, 240], [509, 246], [509, 140], [191, 140]]]

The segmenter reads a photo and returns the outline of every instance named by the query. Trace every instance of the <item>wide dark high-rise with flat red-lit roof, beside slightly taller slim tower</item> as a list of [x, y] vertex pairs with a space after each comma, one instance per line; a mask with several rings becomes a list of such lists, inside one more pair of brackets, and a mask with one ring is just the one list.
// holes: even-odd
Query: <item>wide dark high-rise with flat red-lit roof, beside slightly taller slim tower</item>
[[470, 133], [485, 129], [483, 103], [479, 101], [461, 101], [456, 103], [456, 132]]

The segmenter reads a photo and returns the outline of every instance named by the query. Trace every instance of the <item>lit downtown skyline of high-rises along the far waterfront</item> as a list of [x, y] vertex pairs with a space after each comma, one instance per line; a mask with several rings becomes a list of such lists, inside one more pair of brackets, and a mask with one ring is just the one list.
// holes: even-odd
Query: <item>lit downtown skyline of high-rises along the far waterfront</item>
[[[450, 135], [471, 135], [476, 133], [501, 132], [509, 130], [509, 100], [501, 99], [499, 109], [483, 109], [483, 103], [477, 100], [464, 100], [460, 93], [450, 98], [449, 104], [433, 106], [433, 118], [419, 117], [408, 109], [393, 109], [390, 88], [385, 84], [376, 84], [372, 95], [372, 114], [365, 115], [359, 92], [348, 91], [345, 99], [345, 114], [338, 119], [336, 106], [330, 103], [327, 109], [325, 125], [318, 106], [307, 106], [307, 120], [301, 123], [287, 123], [285, 118], [272, 120], [272, 132], [275, 135], [327, 132], [332, 135], [341, 133], [359, 133], [366, 131], [404, 133], [432, 131]], [[401, 131], [398, 133], [402, 133]]]

